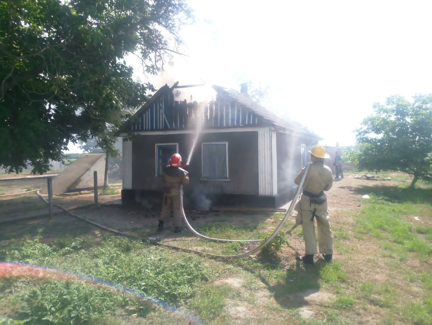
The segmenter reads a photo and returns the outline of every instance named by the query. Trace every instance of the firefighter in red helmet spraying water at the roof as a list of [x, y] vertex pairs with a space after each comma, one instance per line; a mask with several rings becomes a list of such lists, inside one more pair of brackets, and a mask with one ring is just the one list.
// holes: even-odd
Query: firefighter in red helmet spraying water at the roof
[[175, 153], [169, 159], [169, 165], [165, 166], [163, 170], [165, 186], [158, 231], [163, 230], [164, 223], [171, 215], [171, 210], [174, 209], [174, 232], [181, 233], [180, 185], [189, 184], [189, 176], [187, 175], [189, 172], [186, 169], [187, 165], [181, 165], [181, 156]]

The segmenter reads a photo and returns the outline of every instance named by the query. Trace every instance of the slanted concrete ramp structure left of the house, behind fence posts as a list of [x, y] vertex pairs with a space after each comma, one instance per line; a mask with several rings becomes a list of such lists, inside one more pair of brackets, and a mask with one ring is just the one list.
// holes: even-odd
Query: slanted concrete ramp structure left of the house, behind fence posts
[[[93, 172], [98, 172], [98, 186], [104, 185], [105, 153], [83, 154], [53, 178], [53, 194], [93, 189]], [[47, 185], [42, 193], [48, 193]]]

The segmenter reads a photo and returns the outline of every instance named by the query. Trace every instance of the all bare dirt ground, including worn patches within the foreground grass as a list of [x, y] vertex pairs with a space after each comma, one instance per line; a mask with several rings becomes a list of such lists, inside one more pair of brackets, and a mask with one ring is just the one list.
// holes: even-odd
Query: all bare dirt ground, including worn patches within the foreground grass
[[[390, 175], [396, 176], [398, 173]], [[346, 173], [345, 178], [338, 182], [334, 182], [333, 188], [327, 192], [330, 223], [333, 229], [340, 227], [351, 228], [354, 225], [353, 216], [359, 213], [360, 209], [365, 200], [362, 193], [358, 190], [359, 186], [374, 186], [374, 185], [388, 185], [388, 186], [399, 186], [400, 182], [393, 182], [389, 180], [365, 180], [354, 178], [356, 174]], [[39, 181], [38, 181], [39, 182]], [[30, 185], [37, 186], [37, 182], [29, 181]], [[21, 188], [30, 185], [19, 185]], [[119, 185], [117, 185], [119, 186]], [[18, 188], [15, 188], [15, 190]], [[7, 199], [6, 199], [7, 198]], [[27, 194], [21, 197], [12, 198], [0, 198], [0, 208], [2, 217], [10, 217], [11, 215], [18, 216], [27, 213], [29, 210], [47, 210], [46, 204], [35, 194]], [[106, 203], [114, 201], [120, 198], [120, 194], [100, 196], [99, 202]], [[86, 204], [92, 204], [93, 194], [81, 194], [75, 196], [58, 196], [54, 198], [55, 204], [60, 204], [67, 208], [74, 208], [77, 206], [83, 206]], [[45, 212], [46, 213], [46, 212]], [[116, 204], [105, 205], [102, 207], [85, 207], [74, 210], [74, 213], [85, 217], [89, 220], [101, 223], [119, 231], [131, 233], [133, 235], [141, 236], [142, 238], [155, 237], [157, 236], [159, 241], [167, 242], [172, 245], [179, 245], [181, 241], [194, 240], [195, 237], [191, 237], [190, 234], [174, 234], [172, 231], [165, 231], [162, 234], [156, 232], [157, 219], [159, 217], [159, 210], [146, 210], [140, 206], [134, 207], [122, 207]], [[267, 229], [270, 231], [278, 225], [278, 221], [273, 220], [273, 213], [262, 213], [262, 212], [202, 212], [202, 211], [186, 211], [188, 220], [193, 227], [217, 224], [222, 222], [228, 222], [235, 225], [247, 226], [256, 224], [258, 221], [265, 221]], [[295, 213], [292, 213], [294, 216]], [[290, 224], [294, 223], [294, 217], [290, 218]], [[168, 223], [168, 229], [170, 223]], [[0, 240], [8, 240], [12, 238], [19, 238], [25, 235], [33, 235], [37, 232], [38, 228], [44, 228], [45, 238], [49, 240], [49, 237], [58, 236], [58, 233], [65, 233], [70, 236], [82, 236], [89, 235], [98, 237], [101, 233], [105, 233], [104, 230], [85, 223], [81, 220], [68, 216], [66, 213], [57, 213], [54, 218], [49, 220], [46, 215], [40, 215], [37, 218], [21, 220], [13, 223], [3, 223], [0, 227]], [[66, 230], [65, 230], [66, 229]], [[351, 228], [352, 229], [352, 228]], [[295, 252], [298, 251], [300, 254], [304, 252], [304, 243], [302, 236], [299, 236], [300, 227], [295, 229], [291, 237], [288, 237], [289, 243], [292, 248], [285, 247], [282, 253], [279, 254], [281, 266], [286, 269], [287, 272], [293, 266], [295, 261]], [[50, 235], [51, 234], [51, 235]], [[368, 256], [374, 249], [373, 242], [365, 242], [356, 238], [349, 239], [349, 245], [356, 247], [356, 254]], [[254, 247], [253, 244], [245, 245], [242, 249], [247, 250]], [[323, 259], [319, 255], [315, 255], [317, 264], [324, 264]], [[334, 252], [334, 260], [346, 259], [342, 256], [337, 249]], [[302, 266], [303, 267], [303, 266]], [[371, 274], [375, 274], [371, 264], [358, 263], [358, 280], [371, 280]], [[375, 274], [375, 277], [382, 277], [385, 275]], [[373, 277], [373, 276], [372, 276]], [[242, 285], [244, 279], [237, 277], [227, 277], [225, 279], [219, 279], [214, 282], [214, 285], [230, 285], [235, 288], [243, 288]], [[295, 279], [293, 279], [295, 281]], [[281, 294], [277, 288], [273, 288], [264, 283], [258, 283], [257, 289], [254, 291], [257, 302], [259, 304], [267, 304], [271, 301], [276, 302], [280, 306], [297, 306], [299, 308], [300, 315], [304, 318], [309, 318], [320, 312], [322, 309], [323, 302], [334, 298], [334, 293], [327, 292], [325, 290], [304, 290], [296, 292], [294, 294]], [[250, 320], [253, 315], [254, 306], [244, 304], [244, 306], [238, 306], [233, 303], [232, 308], [229, 307], [229, 312], [236, 322], [242, 323], [246, 320]], [[356, 312], [356, 311], [354, 311]], [[371, 323], [375, 324], [376, 320], [380, 318], [380, 310], [371, 306], [368, 312], [357, 311], [356, 322], [358, 323]], [[283, 320], [281, 320], [283, 321]]]

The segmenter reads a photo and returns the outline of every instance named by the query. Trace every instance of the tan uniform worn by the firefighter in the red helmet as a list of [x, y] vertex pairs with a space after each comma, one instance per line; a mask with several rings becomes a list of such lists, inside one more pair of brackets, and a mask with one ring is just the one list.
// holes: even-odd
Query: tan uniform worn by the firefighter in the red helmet
[[181, 224], [180, 210], [180, 185], [189, 184], [189, 172], [180, 167], [166, 166], [164, 168], [165, 187], [162, 202], [161, 220], [165, 223], [174, 209], [174, 226], [179, 227]]

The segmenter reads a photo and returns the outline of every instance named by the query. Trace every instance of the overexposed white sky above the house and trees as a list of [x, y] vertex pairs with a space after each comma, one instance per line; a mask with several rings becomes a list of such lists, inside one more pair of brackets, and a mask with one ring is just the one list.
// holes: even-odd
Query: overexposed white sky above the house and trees
[[[432, 1], [189, 0], [189, 57], [151, 81], [270, 86], [267, 107], [324, 138], [355, 143], [374, 102], [432, 92]], [[137, 62], [136, 76], [144, 81]]]

